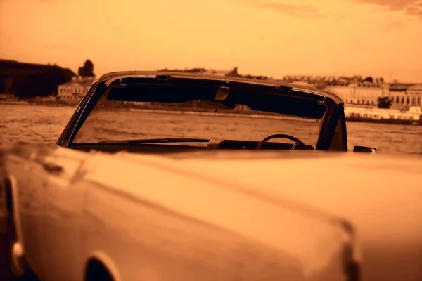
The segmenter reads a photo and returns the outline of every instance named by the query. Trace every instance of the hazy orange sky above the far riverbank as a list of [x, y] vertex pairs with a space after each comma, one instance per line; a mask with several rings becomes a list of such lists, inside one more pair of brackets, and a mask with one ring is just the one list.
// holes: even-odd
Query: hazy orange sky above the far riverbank
[[0, 0], [0, 58], [422, 81], [422, 0]]

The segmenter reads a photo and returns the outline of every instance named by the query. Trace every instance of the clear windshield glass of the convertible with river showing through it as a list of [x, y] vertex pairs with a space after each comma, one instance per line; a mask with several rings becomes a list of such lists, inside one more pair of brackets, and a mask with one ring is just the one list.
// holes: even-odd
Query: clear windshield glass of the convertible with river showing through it
[[[198, 108], [199, 100], [186, 103], [142, 103], [103, 100], [97, 103], [75, 136], [74, 143], [97, 143], [153, 138], [204, 138], [210, 142], [168, 143], [207, 146], [223, 140], [262, 141], [275, 133], [288, 134], [316, 147], [320, 119], [292, 117], [250, 110]], [[285, 138], [270, 142], [293, 143]], [[160, 143], [162, 144], [162, 143]]]

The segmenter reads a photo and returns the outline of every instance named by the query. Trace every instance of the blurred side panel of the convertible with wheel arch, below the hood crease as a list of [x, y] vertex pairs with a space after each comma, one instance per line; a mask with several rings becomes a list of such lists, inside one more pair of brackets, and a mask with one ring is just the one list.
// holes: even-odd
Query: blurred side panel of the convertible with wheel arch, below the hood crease
[[[43, 201], [44, 235], [30, 240], [24, 231], [24, 251], [43, 246], [39, 253], [48, 266], [34, 270], [44, 280], [80, 280], [98, 255], [109, 257], [121, 280], [344, 280], [343, 247], [350, 237], [338, 217], [303, 213], [230, 183], [151, 165], [166, 162], [162, 157], [146, 163], [125, 157], [62, 148], [44, 157], [75, 178], [44, 172], [51, 194]], [[173, 160], [167, 161], [171, 167]]]

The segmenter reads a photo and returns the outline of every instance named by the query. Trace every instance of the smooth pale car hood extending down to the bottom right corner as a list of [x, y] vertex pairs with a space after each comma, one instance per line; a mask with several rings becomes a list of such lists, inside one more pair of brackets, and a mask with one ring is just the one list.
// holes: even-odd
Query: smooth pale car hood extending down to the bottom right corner
[[[117, 155], [116, 155], [117, 156]], [[217, 152], [119, 157], [346, 218], [362, 241], [364, 280], [419, 280], [422, 159], [353, 152]]]

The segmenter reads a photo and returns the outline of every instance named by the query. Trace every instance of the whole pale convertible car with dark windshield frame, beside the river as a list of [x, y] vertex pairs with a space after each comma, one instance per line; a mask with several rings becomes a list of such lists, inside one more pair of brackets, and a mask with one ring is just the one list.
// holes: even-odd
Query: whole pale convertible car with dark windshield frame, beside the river
[[6, 155], [13, 277], [421, 280], [422, 159], [347, 152], [340, 98], [271, 83], [98, 79]]

